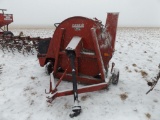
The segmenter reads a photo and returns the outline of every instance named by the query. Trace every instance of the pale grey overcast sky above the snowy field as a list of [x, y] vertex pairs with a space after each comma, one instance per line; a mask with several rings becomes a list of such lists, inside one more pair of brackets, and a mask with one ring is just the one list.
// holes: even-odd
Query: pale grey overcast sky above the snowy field
[[72, 16], [98, 18], [119, 12], [119, 26], [160, 27], [160, 0], [0, 0], [14, 25], [52, 25]]

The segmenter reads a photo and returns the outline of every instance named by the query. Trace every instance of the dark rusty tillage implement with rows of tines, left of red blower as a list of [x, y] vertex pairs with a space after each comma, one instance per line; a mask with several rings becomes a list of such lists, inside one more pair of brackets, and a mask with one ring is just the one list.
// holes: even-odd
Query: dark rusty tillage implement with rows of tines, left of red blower
[[40, 37], [21, 37], [21, 36], [1, 36], [0, 37], [0, 49], [3, 53], [12, 52], [13, 54], [15, 51], [19, 53], [29, 54], [38, 51], [38, 43], [41, 40], [51, 40], [51, 38], [40, 38]]

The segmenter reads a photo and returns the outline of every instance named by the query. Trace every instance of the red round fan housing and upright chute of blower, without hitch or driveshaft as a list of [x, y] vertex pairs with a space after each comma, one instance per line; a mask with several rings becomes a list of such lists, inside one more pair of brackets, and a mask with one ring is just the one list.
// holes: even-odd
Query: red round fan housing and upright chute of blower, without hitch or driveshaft
[[[40, 65], [52, 60], [54, 76], [60, 78], [70, 64], [65, 49], [78, 37], [80, 40], [75, 48], [77, 80], [85, 84], [104, 82], [105, 70], [114, 52], [117, 20], [118, 13], [108, 13], [105, 26], [96, 18], [77, 16], [64, 20], [57, 26], [47, 52], [38, 54]], [[71, 67], [64, 80], [71, 81]]]

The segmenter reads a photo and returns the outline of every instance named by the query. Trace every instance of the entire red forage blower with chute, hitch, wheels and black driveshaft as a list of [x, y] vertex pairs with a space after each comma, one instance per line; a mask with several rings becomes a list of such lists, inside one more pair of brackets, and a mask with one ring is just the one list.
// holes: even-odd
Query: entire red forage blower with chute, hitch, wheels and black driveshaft
[[[107, 89], [110, 83], [118, 84], [119, 70], [112, 64], [110, 80], [107, 81], [109, 61], [115, 51], [118, 13], [108, 13], [106, 24], [97, 18], [75, 16], [56, 23], [51, 40], [39, 42], [40, 66], [46, 66], [50, 74], [48, 102], [60, 96], [74, 96], [70, 117], [81, 113], [78, 94]], [[55, 79], [59, 79], [54, 82]], [[73, 89], [58, 91], [62, 80], [73, 83]], [[78, 88], [77, 83], [88, 86]]]

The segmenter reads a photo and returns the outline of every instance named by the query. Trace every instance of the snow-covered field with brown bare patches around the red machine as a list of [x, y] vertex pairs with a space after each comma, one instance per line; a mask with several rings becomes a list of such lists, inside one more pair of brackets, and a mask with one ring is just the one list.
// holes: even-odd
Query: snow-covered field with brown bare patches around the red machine
[[[52, 29], [13, 29], [14, 34], [51, 37]], [[82, 113], [70, 118], [73, 96], [46, 102], [49, 76], [35, 55], [3, 54], [0, 50], [0, 120], [160, 120], [160, 82], [149, 90], [147, 80], [158, 73], [160, 28], [119, 28], [112, 61], [120, 81], [109, 90], [79, 95]], [[112, 62], [111, 61], [111, 62]], [[59, 89], [72, 88], [62, 82]]]

